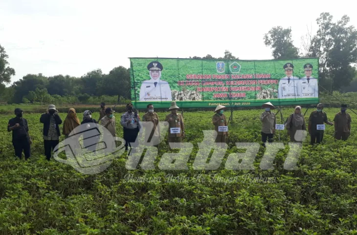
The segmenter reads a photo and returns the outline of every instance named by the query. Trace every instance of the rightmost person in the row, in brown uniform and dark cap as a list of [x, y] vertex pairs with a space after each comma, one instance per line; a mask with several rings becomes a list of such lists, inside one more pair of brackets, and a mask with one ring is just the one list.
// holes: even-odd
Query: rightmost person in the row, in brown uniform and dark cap
[[335, 140], [347, 141], [351, 134], [351, 116], [346, 113], [347, 104], [341, 105], [341, 112], [335, 115]]

